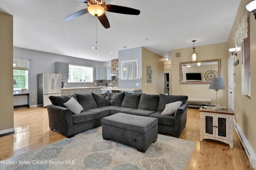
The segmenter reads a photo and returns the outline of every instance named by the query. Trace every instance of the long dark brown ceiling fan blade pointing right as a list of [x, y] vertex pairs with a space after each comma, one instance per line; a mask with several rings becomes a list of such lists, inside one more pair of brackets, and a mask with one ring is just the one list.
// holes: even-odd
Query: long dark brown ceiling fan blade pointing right
[[115, 12], [115, 13], [119, 13], [119, 14], [129, 14], [129, 15], [139, 15], [140, 14], [140, 10], [136, 10], [133, 8], [128, 8], [125, 6], [117, 6], [117, 5], [104, 5], [103, 7], [107, 7], [105, 10], [108, 12]]

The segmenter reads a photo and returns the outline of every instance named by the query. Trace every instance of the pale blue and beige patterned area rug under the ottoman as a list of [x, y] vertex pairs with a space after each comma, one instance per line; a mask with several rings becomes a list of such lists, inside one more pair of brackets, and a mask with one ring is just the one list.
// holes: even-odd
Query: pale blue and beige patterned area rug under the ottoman
[[196, 143], [158, 134], [145, 153], [102, 138], [102, 127], [1, 160], [6, 170], [186, 170]]

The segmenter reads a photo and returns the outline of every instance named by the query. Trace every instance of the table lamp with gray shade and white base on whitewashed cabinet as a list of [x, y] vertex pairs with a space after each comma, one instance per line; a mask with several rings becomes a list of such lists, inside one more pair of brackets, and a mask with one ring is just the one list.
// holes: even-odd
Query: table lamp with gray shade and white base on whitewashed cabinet
[[218, 107], [218, 90], [223, 90], [225, 89], [225, 84], [224, 84], [224, 80], [222, 77], [213, 77], [211, 79], [211, 84], [209, 89], [214, 89], [216, 91], [216, 106], [213, 107], [212, 109], [215, 110], [221, 110], [221, 107]]

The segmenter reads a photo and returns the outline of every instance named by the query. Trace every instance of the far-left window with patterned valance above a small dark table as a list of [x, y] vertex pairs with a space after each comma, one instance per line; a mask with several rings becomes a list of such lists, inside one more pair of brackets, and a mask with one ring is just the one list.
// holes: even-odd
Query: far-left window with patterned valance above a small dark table
[[28, 68], [30, 67], [30, 60], [13, 58], [13, 79], [16, 84], [13, 85], [13, 90], [28, 89]]

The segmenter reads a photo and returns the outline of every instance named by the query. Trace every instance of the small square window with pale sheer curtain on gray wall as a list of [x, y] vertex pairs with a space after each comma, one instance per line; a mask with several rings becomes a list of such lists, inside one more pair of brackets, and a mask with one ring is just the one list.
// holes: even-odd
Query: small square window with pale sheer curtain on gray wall
[[122, 61], [122, 80], [138, 79], [138, 60]]

